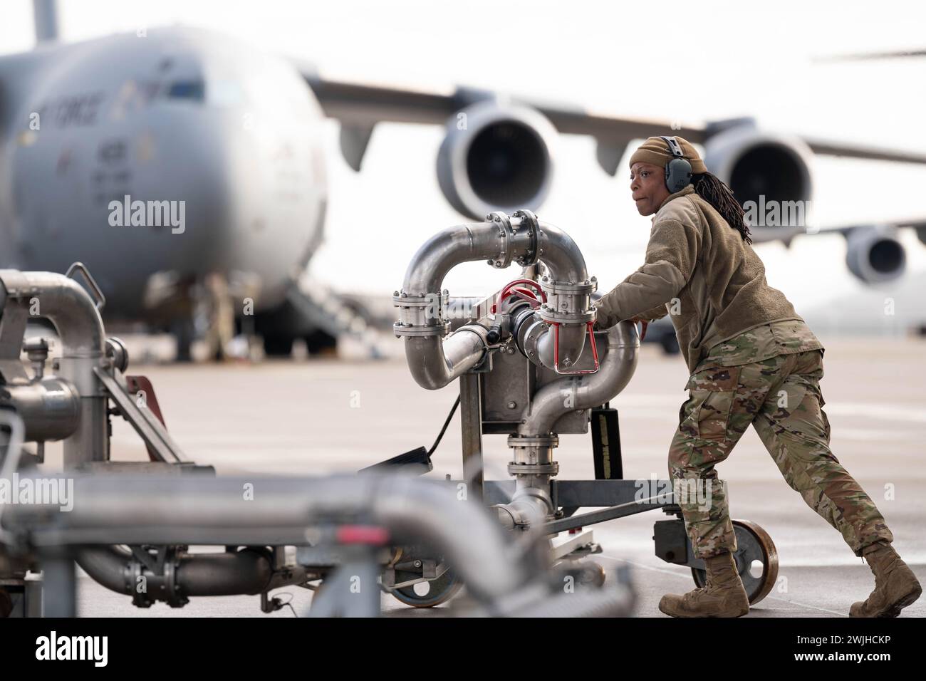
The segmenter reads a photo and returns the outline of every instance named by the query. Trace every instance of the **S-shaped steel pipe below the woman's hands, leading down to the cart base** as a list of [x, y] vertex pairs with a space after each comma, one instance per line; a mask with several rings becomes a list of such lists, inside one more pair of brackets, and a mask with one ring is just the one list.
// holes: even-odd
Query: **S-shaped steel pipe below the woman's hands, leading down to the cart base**
[[529, 410], [521, 414], [518, 435], [548, 435], [567, 411], [597, 407], [617, 396], [631, 380], [639, 348], [636, 325], [619, 322], [612, 326], [607, 330], [607, 356], [598, 372], [544, 385], [531, 398]]

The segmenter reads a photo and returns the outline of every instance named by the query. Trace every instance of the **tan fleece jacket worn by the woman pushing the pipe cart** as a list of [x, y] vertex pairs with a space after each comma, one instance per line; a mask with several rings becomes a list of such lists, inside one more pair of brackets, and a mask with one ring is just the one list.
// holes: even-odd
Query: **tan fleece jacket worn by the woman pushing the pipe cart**
[[766, 283], [752, 246], [691, 184], [669, 195], [653, 216], [644, 266], [595, 308], [601, 328], [669, 313], [692, 372], [721, 341], [759, 324], [801, 320], [784, 294]]

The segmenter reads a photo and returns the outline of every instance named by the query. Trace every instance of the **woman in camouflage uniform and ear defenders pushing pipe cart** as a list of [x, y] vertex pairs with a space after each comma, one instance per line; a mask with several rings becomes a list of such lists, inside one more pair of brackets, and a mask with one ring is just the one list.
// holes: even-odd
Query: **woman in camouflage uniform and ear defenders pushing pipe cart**
[[[596, 323], [670, 315], [691, 375], [669, 476], [694, 554], [707, 566], [704, 587], [667, 594], [659, 610], [674, 617], [749, 612], [715, 466], [752, 423], [788, 485], [868, 561], [875, 588], [850, 615], [895, 617], [920, 597], [920, 582], [891, 546], [894, 536], [874, 502], [830, 450], [820, 392], [824, 348], [766, 283], [743, 208], [681, 137], [648, 138], [630, 166], [636, 208], [654, 216], [645, 264], [596, 303]], [[692, 487], [697, 500], [684, 494]]]

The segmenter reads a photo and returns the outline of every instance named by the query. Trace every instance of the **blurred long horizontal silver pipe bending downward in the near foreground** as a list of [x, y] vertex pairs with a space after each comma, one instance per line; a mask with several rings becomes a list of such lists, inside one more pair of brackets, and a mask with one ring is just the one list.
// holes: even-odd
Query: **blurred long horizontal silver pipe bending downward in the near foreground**
[[[245, 485], [255, 497], [242, 501]], [[5, 513], [6, 528], [16, 527], [36, 548], [81, 547], [79, 563], [103, 586], [125, 592], [128, 557], [121, 549], [83, 550], [111, 544], [237, 546], [301, 545], [306, 529], [320, 521], [349, 522], [362, 516], [382, 523], [393, 536], [412, 536], [441, 551], [479, 598], [505, 599], [534, 574], [521, 549], [477, 503], [461, 503], [454, 486], [405, 475], [334, 475], [325, 478], [202, 478], [181, 476], [95, 475], [74, 478], [74, 498], [68, 513], [56, 506], [16, 504]], [[53, 512], [54, 511], [54, 512]], [[24, 535], [24, 536], [26, 536]], [[231, 554], [229, 561], [244, 561]], [[196, 554], [190, 567], [177, 573], [177, 583], [205, 589], [198, 577], [184, 584], [184, 574], [202, 574]], [[202, 562], [212, 559], [204, 559]], [[211, 563], [210, 563], [211, 564]], [[258, 574], [242, 563], [246, 574]], [[233, 570], [213, 574], [232, 588]], [[234, 582], [251, 588], [252, 580]], [[227, 583], [226, 586], [221, 586]], [[246, 584], [245, 584], [246, 583]], [[131, 585], [132, 587], [134, 585]], [[240, 591], [239, 591], [240, 593]]]

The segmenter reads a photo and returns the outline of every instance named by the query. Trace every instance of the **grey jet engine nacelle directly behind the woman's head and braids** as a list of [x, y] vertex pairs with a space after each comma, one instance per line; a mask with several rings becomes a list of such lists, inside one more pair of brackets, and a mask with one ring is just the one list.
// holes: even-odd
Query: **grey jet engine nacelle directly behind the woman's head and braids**
[[[757, 206], [778, 202], [782, 214], [792, 217], [770, 226], [803, 230], [806, 224], [795, 224], [795, 211], [784, 210], [784, 204], [810, 199], [812, 158], [810, 148], [798, 138], [739, 125], [708, 139], [704, 160], [707, 170], [730, 185], [744, 208], [749, 201]], [[800, 215], [805, 215], [806, 209], [807, 203], [802, 203]], [[757, 226], [761, 227], [761, 222]]]

